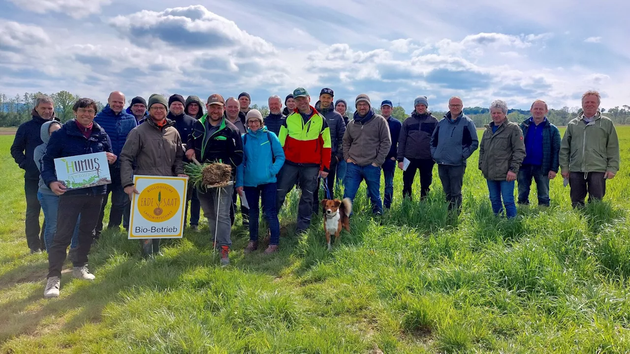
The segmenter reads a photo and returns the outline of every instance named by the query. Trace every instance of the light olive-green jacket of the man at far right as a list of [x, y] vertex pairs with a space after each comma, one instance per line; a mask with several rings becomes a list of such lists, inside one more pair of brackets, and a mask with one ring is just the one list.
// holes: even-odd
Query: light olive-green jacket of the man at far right
[[566, 126], [559, 159], [563, 172], [617, 173], [619, 139], [612, 120], [600, 112], [590, 123], [584, 115], [573, 118]]

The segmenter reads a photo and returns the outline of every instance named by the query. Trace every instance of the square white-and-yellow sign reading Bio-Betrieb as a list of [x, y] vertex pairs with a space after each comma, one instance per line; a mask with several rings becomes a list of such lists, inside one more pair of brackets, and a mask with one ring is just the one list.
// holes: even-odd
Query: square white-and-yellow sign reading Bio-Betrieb
[[183, 236], [186, 177], [134, 176], [129, 239], [177, 239]]

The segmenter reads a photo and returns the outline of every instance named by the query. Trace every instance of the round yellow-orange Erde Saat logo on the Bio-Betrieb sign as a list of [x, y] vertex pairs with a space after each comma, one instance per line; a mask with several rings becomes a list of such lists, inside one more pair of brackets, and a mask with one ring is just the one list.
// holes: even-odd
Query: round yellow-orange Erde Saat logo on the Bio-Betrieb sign
[[144, 188], [138, 197], [138, 210], [144, 219], [164, 222], [175, 216], [180, 208], [180, 193], [166, 183]]

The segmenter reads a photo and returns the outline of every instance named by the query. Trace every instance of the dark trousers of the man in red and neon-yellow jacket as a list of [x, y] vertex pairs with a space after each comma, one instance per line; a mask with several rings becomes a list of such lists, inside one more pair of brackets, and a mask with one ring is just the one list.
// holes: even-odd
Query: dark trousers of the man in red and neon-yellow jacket
[[293, 189], [295, 183], [300, 184], [302, 195], [297, 207], [297, 231], [304, 231], [311, 225], [313, 207], [313, 191], [317, 187], [319, 166], [295, 166], [285, 163], [278, 173], [278, 199], [276, 210], [280, 213], [282, 204], [287, 194]]

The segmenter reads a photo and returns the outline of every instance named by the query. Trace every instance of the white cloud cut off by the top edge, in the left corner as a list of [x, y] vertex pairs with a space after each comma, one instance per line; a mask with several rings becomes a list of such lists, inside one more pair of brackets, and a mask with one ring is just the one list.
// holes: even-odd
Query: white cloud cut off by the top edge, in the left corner
[[89, 14], [101, 12], [101, 6], [112, 3], [112, 0], [9, 0], [20, 8], [35, 13], [50, 11], [67, 14], [73, 18], [82, 18]]

